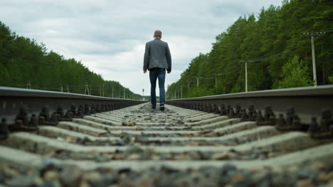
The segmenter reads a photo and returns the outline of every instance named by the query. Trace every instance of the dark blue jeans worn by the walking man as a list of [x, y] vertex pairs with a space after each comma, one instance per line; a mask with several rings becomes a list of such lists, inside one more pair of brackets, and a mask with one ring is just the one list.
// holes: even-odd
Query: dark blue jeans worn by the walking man
[[150, 79], [150, 100], [152, 101], [152, 107], [156, 107], [156, 80], [159, 78], [159, 104], [164, 105], [165, 102], [165, 69], [152, 68], [149, 69]]

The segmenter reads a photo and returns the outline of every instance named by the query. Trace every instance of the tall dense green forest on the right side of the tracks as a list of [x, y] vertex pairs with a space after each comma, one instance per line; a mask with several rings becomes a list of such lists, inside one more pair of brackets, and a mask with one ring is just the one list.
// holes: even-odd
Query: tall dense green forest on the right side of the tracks
[[333, 1], [326, 0], [284, 0], [282, 6], [262, 8], [258, 16], [242, 16], [216, 36], [210, 52], [191, 60], [166, 96], [245, 91], [245, 63], [248, 91], [314, 85], [312, 34], [317, 84], [332, 84], [332, 18]]

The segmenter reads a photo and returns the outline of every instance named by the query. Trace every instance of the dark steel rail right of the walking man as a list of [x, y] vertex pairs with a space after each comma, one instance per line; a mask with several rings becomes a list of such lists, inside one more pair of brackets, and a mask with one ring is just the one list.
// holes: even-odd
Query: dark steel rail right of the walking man
[[[245, 114], [254, 109], [265, 115], [264, 113], [271, 109], [275, 118], [279, 118], [280, 114], [287, 118], [290, 113], [294, 113], [300, 118], [302, 124], [310, 125], [314, 122], [313, 118], [322, 119], [323, 113], [330, 115], [328, 113], [333, 109], [333, 86], [250, 91], [238, 94], [173, 99], [166, 101], [166, 103], [184, 108], [217, 112], [221, 111], [221, 106], [228, 106], [234, 112], [242, 112], [245, 109]], [[239, 113], [238, 117], [240, 115]]]

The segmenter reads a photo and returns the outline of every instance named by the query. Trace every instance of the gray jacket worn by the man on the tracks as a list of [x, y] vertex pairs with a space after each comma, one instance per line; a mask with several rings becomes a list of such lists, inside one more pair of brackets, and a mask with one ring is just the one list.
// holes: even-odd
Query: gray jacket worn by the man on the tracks
[[168, 43], [159, 38], [147, 42], [144, 51], [144, 71], [154, 67], [171, 72], [171, 54]]

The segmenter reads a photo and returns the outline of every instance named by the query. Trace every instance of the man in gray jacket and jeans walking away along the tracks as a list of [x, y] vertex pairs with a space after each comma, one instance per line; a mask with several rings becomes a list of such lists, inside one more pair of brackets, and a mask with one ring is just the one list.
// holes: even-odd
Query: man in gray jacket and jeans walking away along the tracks
[[144, 74], [149, 70], [150, 100], [152, 108], [156, 108], [156, 81], [159, 79], [159, 110], [164, 111], [165, 103], [165, 70], [171, 72], [171, 54], [167, 42], [161, 40], [161, 30], [155, 30], [154, 40], [146, 43], [144, 51]]

